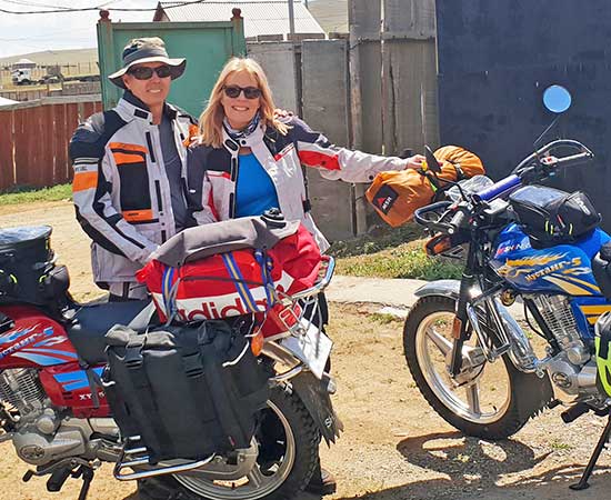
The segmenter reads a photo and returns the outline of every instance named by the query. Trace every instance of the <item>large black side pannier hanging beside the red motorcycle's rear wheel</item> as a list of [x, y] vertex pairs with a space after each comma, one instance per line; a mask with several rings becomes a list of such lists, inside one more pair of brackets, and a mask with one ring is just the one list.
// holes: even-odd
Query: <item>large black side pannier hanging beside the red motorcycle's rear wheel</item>
[[140, 436], [150, 463], [248, 448], [267, 404], [268, 376], [249, 340], [223, 321], [106, 337], [104, 391], [123, 437]]

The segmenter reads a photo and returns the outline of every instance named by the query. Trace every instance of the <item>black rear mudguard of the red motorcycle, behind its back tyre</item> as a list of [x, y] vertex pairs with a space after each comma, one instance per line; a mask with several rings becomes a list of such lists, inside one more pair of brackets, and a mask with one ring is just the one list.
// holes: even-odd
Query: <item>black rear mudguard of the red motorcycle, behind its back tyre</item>
[[335, 438], [340, 437], [340, 432], [343, 431], [343, 423], [333, 410], [327, 390], [329, 376], [323, 374], [322, 380], [319, 380], [309, 371], [301, 372], [291, 379], [293, 391], [308, 409], [329, 446], [331, 442], [335, 442]]

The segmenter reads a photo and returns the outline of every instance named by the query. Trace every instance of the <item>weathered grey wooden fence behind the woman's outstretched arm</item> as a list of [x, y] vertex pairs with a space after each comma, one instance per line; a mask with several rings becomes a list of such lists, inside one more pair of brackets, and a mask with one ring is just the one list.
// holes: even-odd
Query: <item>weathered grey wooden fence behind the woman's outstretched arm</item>
[[[439, 146], [434, 0], [349, 0], [349, 39], [249, 43], [277, 104], [335, 144], [370, 153]], [[281, 71], [279, 71], [281, 69]], [[367, 184], [307, 169], [312, 212], [331, 239], [381, 223]]]

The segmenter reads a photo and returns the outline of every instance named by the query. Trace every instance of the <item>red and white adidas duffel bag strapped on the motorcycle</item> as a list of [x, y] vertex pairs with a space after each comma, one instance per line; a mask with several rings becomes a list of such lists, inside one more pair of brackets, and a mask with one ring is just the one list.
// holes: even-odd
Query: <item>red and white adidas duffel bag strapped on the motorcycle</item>
[[176, 234], [137, 279], [151, 292], [162, 321], [257, 313], [270, 318], [262, 330], [271, 337], [283, 329], [279, 318], [291, 321], [300, 312], [290, 313], [279, 299], [311, 288], [320, 264], [320, 250], [299, 221], [249, 217]]

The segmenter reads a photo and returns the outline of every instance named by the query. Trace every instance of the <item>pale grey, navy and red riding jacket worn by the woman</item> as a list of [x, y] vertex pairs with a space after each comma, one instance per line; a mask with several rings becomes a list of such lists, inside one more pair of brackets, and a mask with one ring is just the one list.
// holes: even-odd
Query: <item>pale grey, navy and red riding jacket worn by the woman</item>
[[240, 147], [250, 148], [270, 176], [280, 210], [288, 220], [300, 220], [321, 251], [329, 242], [315, 227], [307, 199], [301, 166], [315, 168], [330, 180], [371, 182], [385, 170], [403, 170], [407, 161], [339, 148], [298, 118], [286, 120], [289, 132], [261, 124], [236, 141], [223, 130], [223, 146], [196, 143], [188, 150], [189, 204], [198, 224], [232, 219], [236, 214], [236, 179]]

